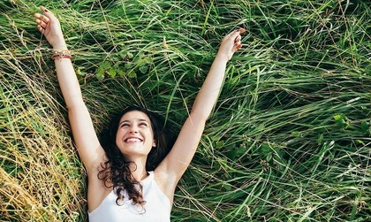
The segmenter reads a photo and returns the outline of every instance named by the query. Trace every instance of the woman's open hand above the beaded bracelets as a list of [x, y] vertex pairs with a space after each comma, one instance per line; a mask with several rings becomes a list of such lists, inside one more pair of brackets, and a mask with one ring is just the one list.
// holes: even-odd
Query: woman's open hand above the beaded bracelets
[[59, 20], [45, 7], [41, 6], [40, 9], [44, 14], [34, 13], [37, 29], [44, 34], [45, 38], [54, 49], [67, 50]]

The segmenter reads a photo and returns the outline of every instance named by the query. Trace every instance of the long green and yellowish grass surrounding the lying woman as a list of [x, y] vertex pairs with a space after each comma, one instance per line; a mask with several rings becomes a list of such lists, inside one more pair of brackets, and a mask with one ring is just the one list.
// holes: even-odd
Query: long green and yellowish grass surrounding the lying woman
[[0, 221], [87, 217], [38, 5], [60, 18], [98, 131], [129, 103], [178, 130], [218, 42], [246, 28], [171, 221], [371, 219], [368, 1], [3, 0]]

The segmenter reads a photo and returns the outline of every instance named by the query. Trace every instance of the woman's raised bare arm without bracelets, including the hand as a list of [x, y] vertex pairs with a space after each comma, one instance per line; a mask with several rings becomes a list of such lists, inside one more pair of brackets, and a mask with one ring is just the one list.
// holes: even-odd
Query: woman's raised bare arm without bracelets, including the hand
[[226, 64], [233, 53], [242, 47], [240, 34], [244, 32], [245, 29], [241, 28], [223, 38], [208, 76], [195, 98], [192, 111], [181, 129], [174, 147], [157, 167], [158, 174], [168, 175], [169, 185], [165, 189], [175, 188], [178, 180], [191, 163], [201, 140], [206, 120], [222, 88]]

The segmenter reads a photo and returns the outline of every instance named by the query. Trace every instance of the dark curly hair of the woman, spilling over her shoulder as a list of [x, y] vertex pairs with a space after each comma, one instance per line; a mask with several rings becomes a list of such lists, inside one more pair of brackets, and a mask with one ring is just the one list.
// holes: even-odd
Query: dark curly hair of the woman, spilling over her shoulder
[[123, 203], [125, 196], [121, 191], [126, 190], [128, 198], [133, 200], [133, 204], [140, 204], [143, 206], [146, 202], [143, 200], [141, 192], [142, 186], [138, 180], [134, 179], [129, 167], [133, 162], [127, 161], [116, 145], [119, 120], [129, 111], [142, 111], [147, 114], [151, 122], [156, 148], [152, 148], [148, 154], [146, 163], [147, 171], [155, 170], [155, 167], [159, 165], [163, 158], [169, 153], [175, 142], [175, 136], [170, 130], [170, 127], [164, 125], [163, 119], [155, 115], [154, 112], [139, 106], [130, 106], [124, 111], [119, 112], [111, 119], [109, 127], [102, 131], [102, 147], [106, 152], [108, 160], [101, 164], [98, 178], [103, 180], [104, 186], [107, 188], [114, 188], [113, 190], [117, 195], [117, 205]]

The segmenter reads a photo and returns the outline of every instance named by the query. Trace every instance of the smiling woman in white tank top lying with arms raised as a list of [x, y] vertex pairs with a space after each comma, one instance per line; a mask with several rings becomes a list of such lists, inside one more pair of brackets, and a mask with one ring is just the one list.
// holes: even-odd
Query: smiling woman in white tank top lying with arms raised
[[[175, 188], [200, 142], [222, 87], [226, 64], [242, 47], [240, 34], [245, 29], [235, 30], [223, 38], [176, 142], [165, 157], [158, 155], [161, 158], [158, 164], [152, 161], [151, 166], [148, 165], [151, 153], [163, 147], [159, 138], [162, 136], [154, 135], [158, 130], [151, 113], [140, 108], [123, 112], [112, 125], [113, 149], [105, 148], [112, 152], [106, 152], [82, 100], [59, 21], [51, 11], [44, 7], [41, 10], [43, 14], [34, 14], [37, 29], [54, 49], [57, 79], [68, 108], [74, 142], [87, 169], [90, 221], [170, 221]], [[166, 154], [166, 150], [161, 152]], [[118, 166], [113, 163], [117, 158], [122, 163]], [[152, 168], [150, 172], [149, 168]]]

